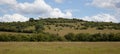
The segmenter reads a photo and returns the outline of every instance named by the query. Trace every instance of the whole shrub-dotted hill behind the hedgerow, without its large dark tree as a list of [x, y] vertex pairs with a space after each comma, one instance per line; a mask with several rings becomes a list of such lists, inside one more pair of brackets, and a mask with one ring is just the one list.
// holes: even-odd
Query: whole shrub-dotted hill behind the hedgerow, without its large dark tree
[[68, 33], [120, 33], [120, 23], [89, 22], [79, 19], [47, 18], [35, 20], [30, 18], [27, 22], [1, 22], [0, 33], [35, 33], [35, 25], [42, 22], [44, 32], [64, 36]]

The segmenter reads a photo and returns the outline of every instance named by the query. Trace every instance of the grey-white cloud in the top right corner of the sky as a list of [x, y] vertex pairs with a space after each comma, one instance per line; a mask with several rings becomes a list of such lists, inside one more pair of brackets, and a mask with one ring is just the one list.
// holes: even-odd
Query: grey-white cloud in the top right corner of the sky
[[120, 3], [120, 0], [93, 0], [91, 5], [101, 8], [117, 8], [116, 6]]

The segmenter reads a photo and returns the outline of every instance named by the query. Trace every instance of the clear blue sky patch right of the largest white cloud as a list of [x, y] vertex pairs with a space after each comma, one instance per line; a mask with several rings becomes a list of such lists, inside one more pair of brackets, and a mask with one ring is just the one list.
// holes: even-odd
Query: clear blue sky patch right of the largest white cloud
[[87, 6], [86, 3], [91, 2], [92, 0], [65, 0], [63, 3], [56, 3], [54, 0], [46, 1], [53, 7], [60, 8], [61, 10], [73, 10], [74, 17], [84, 17], [92, 16], [98, 13], [109, 13], [109, 10], [96, 8], [93, 6]]

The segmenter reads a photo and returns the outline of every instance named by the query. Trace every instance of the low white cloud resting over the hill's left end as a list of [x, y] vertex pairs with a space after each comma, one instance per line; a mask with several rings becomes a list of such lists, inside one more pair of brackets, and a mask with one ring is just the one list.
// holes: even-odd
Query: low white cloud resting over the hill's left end
[[29, 18], [22, 16], [20, 14], [13, 14], [13, 15], [6, 14], [6, 15], [0, 17], [0, 22], [13, 22], [13, 21], [14, 22], [17, 22], [17, 21], [24, 22], [27, 20], [29, 20]]

